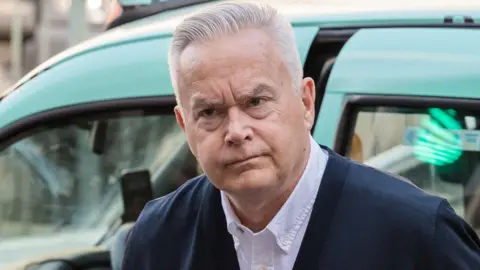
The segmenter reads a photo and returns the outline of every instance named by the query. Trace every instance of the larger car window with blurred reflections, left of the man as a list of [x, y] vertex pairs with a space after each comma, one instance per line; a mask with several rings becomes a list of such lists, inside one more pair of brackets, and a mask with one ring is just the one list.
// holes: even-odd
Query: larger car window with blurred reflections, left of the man
[[70, 119], [6, 147], [0, 152], [0, 262], [94, 245], [121, 217], [119, 177], [128, 169], [150, 171], [155, 197], [199, 173], [173, 113]]

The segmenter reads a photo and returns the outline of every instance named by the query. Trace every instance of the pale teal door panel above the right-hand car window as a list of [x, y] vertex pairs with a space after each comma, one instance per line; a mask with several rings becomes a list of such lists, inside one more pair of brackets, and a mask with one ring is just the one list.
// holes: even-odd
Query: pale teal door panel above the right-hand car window
[[338, 55], [327, 92], [479, 98], [480, 29], [362, 29]]

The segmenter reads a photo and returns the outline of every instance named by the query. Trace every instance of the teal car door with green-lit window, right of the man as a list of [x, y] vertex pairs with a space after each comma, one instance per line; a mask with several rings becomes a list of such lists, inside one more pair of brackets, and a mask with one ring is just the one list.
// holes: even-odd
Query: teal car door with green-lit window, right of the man
[[[332, 69], [324, 103], [341, 113], [330, 124], [335, 130], [323, 131], [340, 154], [446, 198], [477, 230], [479, 34], [440, 27], [358, 31]], [[328, 118], [321, 111], [318, 121]]]

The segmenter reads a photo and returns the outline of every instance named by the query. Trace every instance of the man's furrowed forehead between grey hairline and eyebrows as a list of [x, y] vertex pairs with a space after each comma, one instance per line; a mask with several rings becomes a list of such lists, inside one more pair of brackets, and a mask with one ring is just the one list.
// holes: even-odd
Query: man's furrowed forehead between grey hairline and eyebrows
[[[288, 80], [282, 74], [285, 63], [278, 55], [277, 48], [266, 46], [272, 42], [270, 37], [260, 38], [254, 43], [249, 40], [249, 47], [253, 46], [253, 50], [246, 54], [238, 51], [235, 53], [235, 50], [232, 49], [233, 47], [238, 48], [239, 44], [235, 43], [232, 46], [231, 41], [231, 39], [225, 38], [195, 43], [190, 44], [184, 50], [182, 65], [186, 76], [182, 81], [184, 89], [188, 89], [190, 97], [193, 94], [197, 95], [198, 92], [203, 92], [204, 99], [211, 102], [215, 100], [217, 102], [234, 101], [238, 100], [240, 96], [245, 96], [242, 93], [245, 93], [248, 87], [253, 86], [253, 80], [258, 79], [259, 75], [260, 77], [265, 75], [268, 80], [273, 80], [272, 83], [275, 86], [270, 86], [270, 88], [282, 86], [284, 80]], [[240, 41], [245, 42], [244, 40]], [[224, 43], [228, 44], [228, 47], [225, 47]], [[267, 49], [267, 47], [273, 48]], [[247, 51], [250, 50], [247, 49]], [[250, 91], [247, 95], [260, 94], [259, 89], [248, 90]], [[190, 103], [193, 106], [194, 100], [191, 99]]]

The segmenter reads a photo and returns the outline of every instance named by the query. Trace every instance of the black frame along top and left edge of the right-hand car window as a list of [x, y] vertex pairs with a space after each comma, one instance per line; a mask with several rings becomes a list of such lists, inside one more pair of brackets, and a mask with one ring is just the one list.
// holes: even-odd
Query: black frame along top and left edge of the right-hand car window
[[334, 141], [335, 152], [342, 156], [348, 155], [360, 108], [375, 106], [403, 107], [409, 109], [426, 109], [430, 107], [450, 109], [453, 107], [455, 109], [480, 112], [480, 99], [413, 95], [346, 95], [343, 112], [336, 130]]

